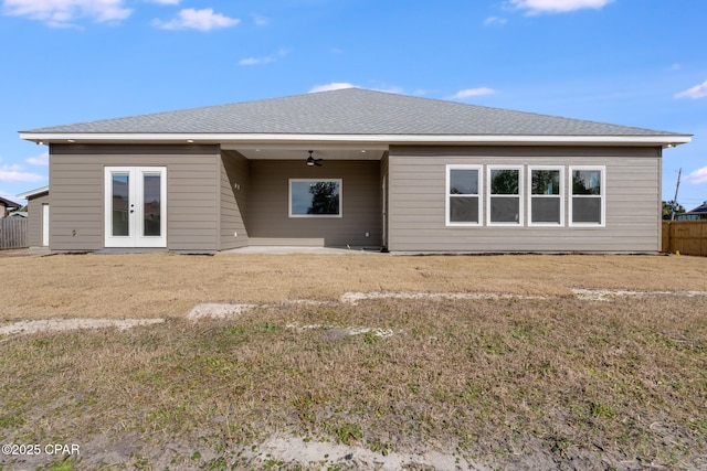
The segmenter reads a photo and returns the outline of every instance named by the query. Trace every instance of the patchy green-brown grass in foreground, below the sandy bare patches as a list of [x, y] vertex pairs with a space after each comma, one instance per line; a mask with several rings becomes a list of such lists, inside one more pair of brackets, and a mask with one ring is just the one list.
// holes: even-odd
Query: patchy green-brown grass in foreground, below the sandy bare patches
[[[496, 468], [699, 468], [706, 313], [704, 297], [380, 299], [6, 339], [0, 441], [80, 443], [82, 453], [3, 459], [52, 469], [297, 469], [254, 458], [267, 437], [288, 432], [381, 459], [437, 450]], [[393, 334], [329, 328], [351, 325]]]

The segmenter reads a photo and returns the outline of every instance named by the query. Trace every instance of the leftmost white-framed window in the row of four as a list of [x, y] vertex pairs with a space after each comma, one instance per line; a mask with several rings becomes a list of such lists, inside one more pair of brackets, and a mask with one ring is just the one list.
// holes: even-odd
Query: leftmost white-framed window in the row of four
[[447, 226], [481, 225], [481, 165], [446, 165]]

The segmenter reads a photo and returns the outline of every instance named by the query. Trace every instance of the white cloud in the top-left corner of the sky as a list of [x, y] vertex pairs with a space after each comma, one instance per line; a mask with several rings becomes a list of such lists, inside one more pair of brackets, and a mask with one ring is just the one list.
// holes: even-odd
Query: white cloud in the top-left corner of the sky
[[124, 0], [4, 0], [4, 14], [43, 21], [50, 26], [66, 28], [80, 18], [96, 22], [125, 20], [133, 10]]

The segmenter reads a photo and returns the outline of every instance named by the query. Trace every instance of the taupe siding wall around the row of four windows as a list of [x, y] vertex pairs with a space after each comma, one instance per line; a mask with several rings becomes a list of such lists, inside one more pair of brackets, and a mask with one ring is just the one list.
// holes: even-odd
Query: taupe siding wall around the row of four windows
[[[478, 164], [483, 225], [445, 225], [447, 164]], [[524, 168], [524, 225], [486, 225], [486, 165]], [[528, 165], [564, 165], [564, 227], [528, 226]], [[605, 227], [569, 226], [570, 165], [605, 165]], [[389, 157], [391, 251], [655, 253], [661, 242], [661, 149], [393, 147]]]

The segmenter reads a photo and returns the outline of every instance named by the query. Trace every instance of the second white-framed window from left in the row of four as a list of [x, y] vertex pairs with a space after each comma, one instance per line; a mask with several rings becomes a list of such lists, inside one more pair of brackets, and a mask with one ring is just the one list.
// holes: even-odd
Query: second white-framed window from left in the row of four
[[488, 165], [488, 225], [523, 226], [523, 167]]

